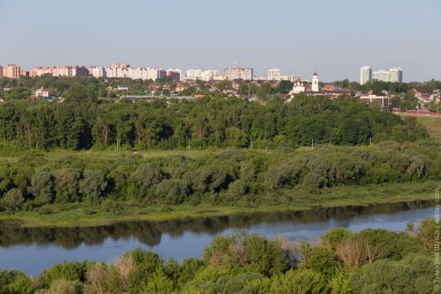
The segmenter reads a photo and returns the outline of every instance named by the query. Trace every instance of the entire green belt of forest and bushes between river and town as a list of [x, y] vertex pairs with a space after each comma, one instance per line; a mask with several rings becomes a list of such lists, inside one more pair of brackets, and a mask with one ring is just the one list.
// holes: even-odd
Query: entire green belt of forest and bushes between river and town
[[[64, 103], [3, 103], [0, 123], [0, 216], [37, 213], [52, 225], [69, 224], [76, 209], [83, 212], [74, 222], [182, 216], [183, 205], [229, 207], [218, 210], [228, 213], [369, 203], [409, 194], [384, 188], [378, 197], [372, 185], [407, 182], [420, 189], [416, 197], [441, 178], [441, 147], [416, 118], [347, 96], [290, 103], [271, 96], [266, 105], [235, 97], [109, 103], [97, 101], [90, 84], [74, 83]], [[362, 197], [349, 197], [365, 187]], [[176, 204], [183, 210], [158, 207]]]

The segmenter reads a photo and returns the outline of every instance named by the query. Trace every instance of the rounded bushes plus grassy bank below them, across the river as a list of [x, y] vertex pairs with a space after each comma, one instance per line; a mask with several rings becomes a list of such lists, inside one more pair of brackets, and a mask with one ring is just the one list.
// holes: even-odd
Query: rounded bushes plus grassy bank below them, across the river
[[70, 217], [75, 223], [103, 218], [101, 211], [114, 217], [185, 211], [192, 216], [205, 209], [214, 213], [216, 207], [228, 213], [240, 207], [412, 200], [435, 189], [440, 149], [423, 140], [314, 150], [233, 148], [187, 156], [92, 151], [6, 158], [0, 163], [0, 216], [68, 224]]

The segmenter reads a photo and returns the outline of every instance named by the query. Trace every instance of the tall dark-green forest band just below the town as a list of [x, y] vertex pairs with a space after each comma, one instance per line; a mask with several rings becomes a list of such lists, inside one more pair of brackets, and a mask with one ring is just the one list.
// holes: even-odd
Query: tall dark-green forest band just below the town
[[2, 103], [0, 140], [12, 149], [151, 150], [298, 147], [312, 140], [367, 145], [427, 137], [414, 118], [402, 120], [348, 96], [331, 101], [299, 94], [290, 103], [274, 96], [265, 105], [234, 97], [123, 102], [97, 102], [78, 86], [65, 103]]

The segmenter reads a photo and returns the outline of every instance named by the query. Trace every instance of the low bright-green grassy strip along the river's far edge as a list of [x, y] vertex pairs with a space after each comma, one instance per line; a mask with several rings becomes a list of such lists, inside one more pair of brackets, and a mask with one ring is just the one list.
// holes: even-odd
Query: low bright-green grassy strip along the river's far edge
[[118, 204], [116, 209], [106, 209], [98, 203], [51, 204], [31, 211], [0, 213], [2, 225], [13, 227], [88, 227], [111, 224], [124, 220], [173, 220], [203, 216], [305, 210], [315, 205], [339, 207], [380, 203], [431, 200], [438, 185], [436, 182], [410, 182], [365, 187], [334, 187], [321, 195], [300, 195], [295, 191], [274, 193], [280, 204], [218, 206], [209, 204], [148, 205]]

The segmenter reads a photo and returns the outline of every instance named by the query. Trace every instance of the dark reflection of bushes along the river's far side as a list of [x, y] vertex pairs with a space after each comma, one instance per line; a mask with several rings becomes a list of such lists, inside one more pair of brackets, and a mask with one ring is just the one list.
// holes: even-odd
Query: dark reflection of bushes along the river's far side
[[420, 200], [393, 204], [376, 204], [367, 207], [314, 207], [304, 211], [277, 211], [271, 213], [249, 213], [212, 218], [192, 218], [189, 220], [165, 220], [161, 222], [131, 221], [117, 222], [109, 226], [76, 228], [13, 228], [8, 222], [0, 222], [0, 246], [15, 244], [57, 244], [65, 249], [73, 249], [82, 242], [87, 245], [101, 244], [106, 238], [113, 240], [136, 238], [139, 242], [154, 246], [161, 242], [162, 233], [174, 237], [186, 231], [215, 234], [225, 229], [247, 229], [260, 222], [322, 222], [329, 218], [345, 220], [354, 216], [377, 213], [396, 213], [410, 209], [423, 209], [433, 205], [433, 201]]

